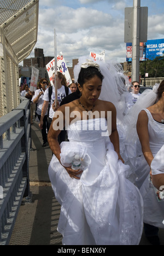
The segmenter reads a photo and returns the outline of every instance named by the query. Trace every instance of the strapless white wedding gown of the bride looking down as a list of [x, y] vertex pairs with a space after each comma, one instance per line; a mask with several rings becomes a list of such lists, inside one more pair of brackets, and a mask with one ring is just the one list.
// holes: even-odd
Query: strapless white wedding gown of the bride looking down
[[143, 200], [125, 178], [128, 166], [118, 160], [104, 118], [79, 120], [70, 125], [69, 142], [61, 144], [61, 162], [83, 158], [79, 180], [69, 177], [52, 156], [49, 177], [61, 204], [58, 232], [63, 245], [138, 245], [142, 235]]

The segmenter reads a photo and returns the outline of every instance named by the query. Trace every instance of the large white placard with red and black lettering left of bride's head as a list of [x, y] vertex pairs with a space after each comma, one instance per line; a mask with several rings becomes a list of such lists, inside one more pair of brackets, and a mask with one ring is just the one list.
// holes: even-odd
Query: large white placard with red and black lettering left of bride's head
[[[46, 65], [46, 70], [49, 75], [50, 83], [52, 83], [52, 74], [55, 72], [54, 70], [54, 65], [55, 65], [55, 58], [52, 59], [47, 65]], [[66, 80], [67, 80], [67, 86], [69, 84], [72, 84], [72, 80], [65, 62], [65, 59], [63, 58], [63, 55], [57, 55], [57, 72], [61, 72], [62, 74], [65, 75]]]

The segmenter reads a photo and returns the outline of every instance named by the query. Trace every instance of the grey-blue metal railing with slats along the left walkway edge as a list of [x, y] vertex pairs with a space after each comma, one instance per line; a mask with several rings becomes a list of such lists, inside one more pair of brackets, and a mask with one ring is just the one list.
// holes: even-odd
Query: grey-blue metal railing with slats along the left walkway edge
[[0, 245], [8, 245], [22, 197], [30, 193], [30, 101], [0, 118]]

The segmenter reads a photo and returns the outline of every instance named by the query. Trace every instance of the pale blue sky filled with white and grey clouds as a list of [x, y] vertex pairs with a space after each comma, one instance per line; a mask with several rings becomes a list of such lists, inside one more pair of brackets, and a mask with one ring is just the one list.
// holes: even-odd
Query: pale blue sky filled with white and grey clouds
[[[148, 40], [164, 38], [164, 1], [140, 0], [140, 6], [148, 7]], [[45, 56], [54, 56], [55, 28], [57, 54], [62, 51], [67, 66], [79, 56], [102, 50], [106, 60], [124, 62], [126, 7], [133, 7], [133, 0], [39, 0], [38, 41], [34, 48], [43, 48]]]

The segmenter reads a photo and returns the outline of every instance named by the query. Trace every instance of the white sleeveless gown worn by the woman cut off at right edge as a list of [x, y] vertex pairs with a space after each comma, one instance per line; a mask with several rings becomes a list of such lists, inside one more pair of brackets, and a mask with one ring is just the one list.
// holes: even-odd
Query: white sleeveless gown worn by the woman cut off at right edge
[[[154, 157], [164, 144], [164, 124], [155, 121], [148, 109], [144, 109], [148, 115], [148, 130], [150, 149]], [[164, 156], [164, 154], [163, 154]], [[163, 156], [155, 162], [154, 169], [158, 169], [163, 162]], [[155, 159], [156, 160], [156, 159]], [[158, 166], [158, 167], [157, 167]], [[143, 154], [137, 158], [136, 184], [143, 196], [144, 201], [144, 223], [164, 228], [164, 201], [158, 201], [153, 185], [149, 181], [150, 166], [145, 160]], [[153, 174], [160, 172], [154, 171]]]

